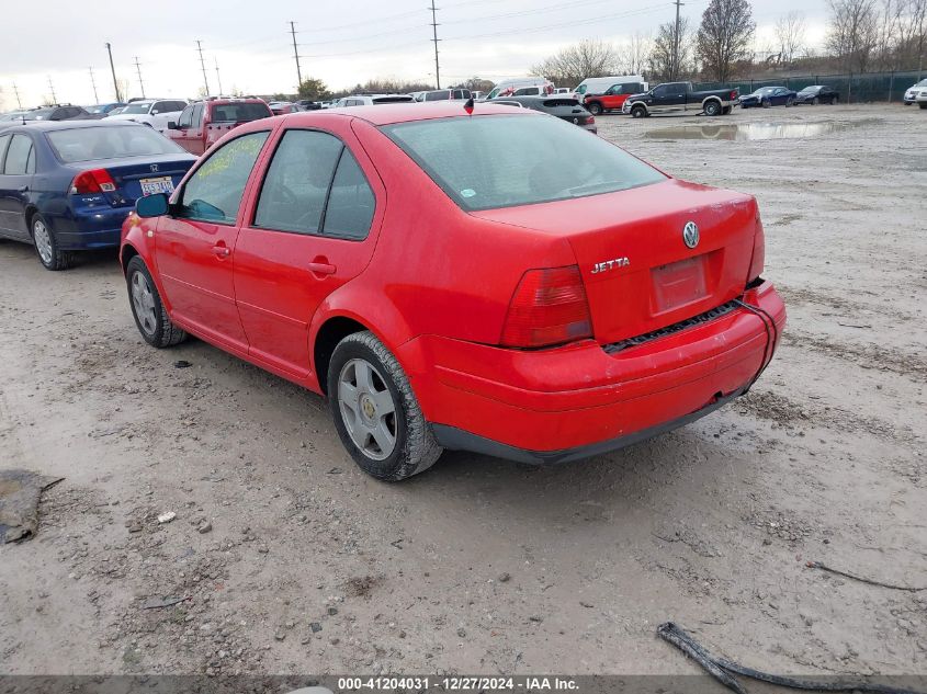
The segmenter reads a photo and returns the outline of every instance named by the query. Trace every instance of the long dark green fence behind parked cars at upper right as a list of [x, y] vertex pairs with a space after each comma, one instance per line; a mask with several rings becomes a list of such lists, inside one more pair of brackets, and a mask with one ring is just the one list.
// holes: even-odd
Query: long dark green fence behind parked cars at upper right
[[843, 103], [868, 103], [873, 101], [901, 102], [904, 92], [927, 71], [903, 70], [898, 72], [849, 72], [844, 75], [805, 75], [762, 80], [735, 80], [731, 82], [697, 82], [696, 89], [724, 89], [735, 87], [741, 95], [749, 94], [760, 87], [785, 87], [801, 91], [812, 84], [826, 84], [840, 93]]

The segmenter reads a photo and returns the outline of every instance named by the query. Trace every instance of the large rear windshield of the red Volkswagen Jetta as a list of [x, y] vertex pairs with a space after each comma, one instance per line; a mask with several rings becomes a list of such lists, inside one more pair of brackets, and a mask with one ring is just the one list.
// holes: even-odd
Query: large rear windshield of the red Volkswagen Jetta
[[463, 116], [382, 129], [466, 211], [586, 197], [666, 179], [607, 140], [550, 116]]

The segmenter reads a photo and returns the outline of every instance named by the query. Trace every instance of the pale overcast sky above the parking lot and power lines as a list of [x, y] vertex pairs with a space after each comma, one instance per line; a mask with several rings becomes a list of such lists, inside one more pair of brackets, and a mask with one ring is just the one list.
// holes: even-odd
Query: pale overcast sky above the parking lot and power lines
[[[89, 68], [99, 101], [113, 99], [104, 44], [112, 44], [116, 76], [139, 96], [135, 57], [148, 96], [194, 96], [203, 84], [196, 53], [202, 41], [206, 77], [223, 91], [292, 92], [296, 68], [290, 24], [303, 77], [319, 77], [332, 89], [369, 78], [433, 82], [434, 54], [429, 0], [4, 0], [0, 23], [0, 109], [14, 109], [15, 83], [23, 106], [52, 96], [93, 103]], [[682, 14], [698, 25], [708, 0], [688, 0]], [[653, 33], [672, 19], [670, 2], [656, 0], [438, 0], [442, 83], [479, 76], [490, 80], [528, 73], [532, 65], [580, 38], [620, 42]], [[757, 48], [772, 41], [776, 20], [799, 10], [809, 43], [824, 35], [824, 0], [754, 0]], [[575, 87], [566, 84], [565, 87]]]

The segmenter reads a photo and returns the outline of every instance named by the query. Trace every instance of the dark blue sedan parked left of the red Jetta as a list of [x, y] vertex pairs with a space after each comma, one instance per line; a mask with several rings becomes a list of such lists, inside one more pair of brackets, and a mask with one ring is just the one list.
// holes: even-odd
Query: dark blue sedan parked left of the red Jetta
[[48, 270], [74, 251], [115, 248], [135, 201], [170, 193], [196, 158], [145, 125], [37, 122], [0, 132], [0, 237]]

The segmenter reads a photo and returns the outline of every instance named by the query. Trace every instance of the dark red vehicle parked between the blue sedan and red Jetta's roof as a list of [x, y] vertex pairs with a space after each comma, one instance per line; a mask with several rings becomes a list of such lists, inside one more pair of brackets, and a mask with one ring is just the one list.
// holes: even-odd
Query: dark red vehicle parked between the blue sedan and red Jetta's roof
[[189, 104], [165, 133], [192, 155], [202, 155], [231, 128], [273, 115], [262, 99], [207, 99]]

